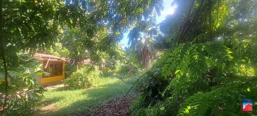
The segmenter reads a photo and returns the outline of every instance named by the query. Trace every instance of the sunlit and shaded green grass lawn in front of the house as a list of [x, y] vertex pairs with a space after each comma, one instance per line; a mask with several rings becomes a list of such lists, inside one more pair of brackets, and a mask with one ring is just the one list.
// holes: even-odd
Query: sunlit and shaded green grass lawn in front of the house
[[[44, 93], [42, 107], [49, 106], [51, 109], [44, 115], [76, 115], [86, 113], [93, 106], [103, 105], [104, 103], [123, 97], [138, 77], [102, 77], [95, 78], [90, 89], [69, 90], [67, 88], [57, 88], [48, 90]], [[132, 89], [131, 94], [135, 94]]]

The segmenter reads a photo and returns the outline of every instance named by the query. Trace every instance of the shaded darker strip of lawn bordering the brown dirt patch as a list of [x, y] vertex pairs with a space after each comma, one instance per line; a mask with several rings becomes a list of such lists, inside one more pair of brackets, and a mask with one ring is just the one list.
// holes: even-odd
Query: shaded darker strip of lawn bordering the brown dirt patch
[[[77, 100], [67, 107], [63, 107], [58, 111], [51, 112], [47, 115], [86, 115], [88, 111], [92, 110], [92, 107], [103, 105], [110, 100], [125, 96], [131, 86], [132, 85], [130, 83], [128, 84], [123, 82], [115, 82], [100, 87], [88, 89], [82, 92], [82, 96], [86, 96], [85, 99]], [[135, 94], [135, 90], [132, 90], [129, 93], [130, 95]]]

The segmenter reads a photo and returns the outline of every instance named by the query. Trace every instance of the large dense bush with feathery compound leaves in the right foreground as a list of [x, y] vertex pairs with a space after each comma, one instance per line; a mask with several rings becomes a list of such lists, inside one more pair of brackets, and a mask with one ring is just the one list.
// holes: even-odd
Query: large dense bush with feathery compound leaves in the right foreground
[[133, 115], [240, 115], [240, 98], [257, 99], [256, 77], [243, 72], [254, 74], [256, 58], [243, 54], [242, 44], [227, 44], [185, 43], [166, 52], [147, 73], [145, 99], [139, 100], [147, 105], [131, 107]]

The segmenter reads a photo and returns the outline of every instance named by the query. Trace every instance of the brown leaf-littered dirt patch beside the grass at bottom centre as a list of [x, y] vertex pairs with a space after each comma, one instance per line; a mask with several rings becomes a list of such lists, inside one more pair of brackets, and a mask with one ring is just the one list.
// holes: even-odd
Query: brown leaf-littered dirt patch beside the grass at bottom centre
[[[107, 104], [93, 108], [90, 113], [80, 114], [79, 116], [129, 116], [129, 107], [132, 100], [137, 96], [128, 96], [123, 98], [114, 99]], [[123, 100], [123, 101], [122, 101]]]

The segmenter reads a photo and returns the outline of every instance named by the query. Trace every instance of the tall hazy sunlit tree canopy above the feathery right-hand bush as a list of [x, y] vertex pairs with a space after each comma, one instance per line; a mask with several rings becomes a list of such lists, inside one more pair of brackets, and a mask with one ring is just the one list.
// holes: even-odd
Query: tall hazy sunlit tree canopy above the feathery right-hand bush
[[256, 20], [256, 0], [174, 0], [172, 4], [177, 5], [176, 12], [160, 24], [168, 43], [256, 36], [251, 25]]

